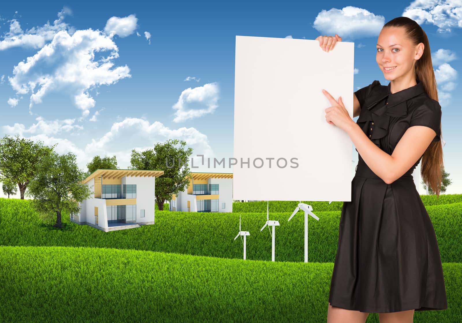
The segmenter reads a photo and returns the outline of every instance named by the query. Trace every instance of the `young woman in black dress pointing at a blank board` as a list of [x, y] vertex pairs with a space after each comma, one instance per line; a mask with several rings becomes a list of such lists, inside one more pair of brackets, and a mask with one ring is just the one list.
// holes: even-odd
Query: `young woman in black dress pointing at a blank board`
[[[341, 37], [319, 36], [323, 50]], [[351, 202], [344, 202], [328, 299], [328, 323], [412, 322], [414, 311], [448, 307], [432, 222], [412, 173], [439, 196], [443, 150], [441, 107], [426, 33], [414, 20], [383, 26], [376, 61], [389, 80], [353, 94], [353, 117], [341, 98], [326, 108], [326, 121], [348, 133], [358, 151]]]

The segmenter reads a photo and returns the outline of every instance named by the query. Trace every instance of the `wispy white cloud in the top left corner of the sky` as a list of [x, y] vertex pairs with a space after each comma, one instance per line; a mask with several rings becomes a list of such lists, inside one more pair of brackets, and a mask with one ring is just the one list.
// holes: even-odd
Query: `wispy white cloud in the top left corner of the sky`
[[53, 25], [50, 25], [48, 21], [42, 27], [32, 27], [25, 32], [21, 29], [17, 19], [8, 20], [8, 22], [11, 22], [10, 30], [4, 33], [3, 36], [0, 36], [0, 38], [3, 38], [0, 41], [0, 50], [13, 47], [42, 48], [45, 43], [52, 40], [55, 34], [61, 30], [68, 30], [72, 35], [74, 31], [73, 27], [69, 27], [63, 21], [66, 15], [72, 15], [72, 11], [65, 6], [58, 12], [58, 19], [53, 22]]

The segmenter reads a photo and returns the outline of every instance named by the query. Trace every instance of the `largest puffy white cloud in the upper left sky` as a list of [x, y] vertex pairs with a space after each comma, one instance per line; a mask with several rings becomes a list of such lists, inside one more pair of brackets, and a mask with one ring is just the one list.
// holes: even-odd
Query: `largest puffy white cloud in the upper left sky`
[[[95, 60], [95, 52], [104, 51], [110, 54]], [[131, 77], [127, 65], [111, 69], [112, 60], [118, 57], [116, 44], [99, 30], [77, 30], [72, 36], [61, 30], [51, 43], [14, 66], [13, 77], [8, 80], [18, 94], [31, 92], [29, 109], [42, 102], [45, 95], [61, 92], [69, 95], [87, 116], [95, 105], [88, 90]]]

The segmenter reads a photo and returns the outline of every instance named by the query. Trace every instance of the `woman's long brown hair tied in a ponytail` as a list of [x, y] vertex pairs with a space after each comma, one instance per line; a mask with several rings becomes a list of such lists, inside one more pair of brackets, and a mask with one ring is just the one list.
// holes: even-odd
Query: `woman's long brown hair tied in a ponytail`
[[[432, 56], [430, 55], [430, 44], [425, 31], [417, 22], [407, 17], [397, 17], [383, 25], [385, 27], [402, 27], [406, 30], [406, 35], [416, 46], [419, 43], [424, 44], [424, 52], [419, 60], [415, 62], [415, 77], [424, 86], [426, 94], [433, 100], [438, 101], [438, 90], [433, 72]], [[441, 136], [441, 123], [439, 125]], [[441, 181], [443, 176], [443, 147], [441, 140], [432, 141], [428, 146], [420, 162], [420, 174], [427, 186], [432, 188], [439, 198]]]

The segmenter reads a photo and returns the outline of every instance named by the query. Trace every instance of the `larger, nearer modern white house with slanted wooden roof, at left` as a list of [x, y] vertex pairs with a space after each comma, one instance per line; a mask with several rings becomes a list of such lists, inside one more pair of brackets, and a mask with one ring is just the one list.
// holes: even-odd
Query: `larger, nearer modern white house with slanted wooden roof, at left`
[[163, 170], [97, 169], [83, 180], [91, 197], [71, 221], [104, 232], [154, 224], [155, 179]]

